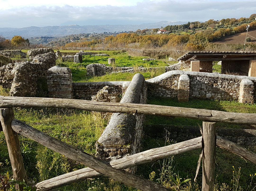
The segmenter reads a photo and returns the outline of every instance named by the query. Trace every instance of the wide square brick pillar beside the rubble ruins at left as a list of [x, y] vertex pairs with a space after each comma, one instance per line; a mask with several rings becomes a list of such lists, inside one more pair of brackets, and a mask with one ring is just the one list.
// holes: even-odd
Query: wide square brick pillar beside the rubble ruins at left
[[50, 98], [73, 99], [72, 72], [70, 68], [54, 66], [47, 71]]

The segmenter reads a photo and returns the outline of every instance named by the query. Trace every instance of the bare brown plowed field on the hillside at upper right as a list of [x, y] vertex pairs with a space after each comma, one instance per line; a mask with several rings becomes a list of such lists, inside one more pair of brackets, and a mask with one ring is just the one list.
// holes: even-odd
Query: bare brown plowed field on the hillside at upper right
[[[249, 35], [251, 35], [252, 37], [250, 37]], [[242, 32], [242, 33], [234, 34], [232, 36], [224, 37], [221, 40], [216, 41], [215, 43], [244, 44], [245, 37], [246, 37], [246, 32]], [[247, 37], [251, 38], [252, 43], [256, 43], [256, 29], [248, 30]]]

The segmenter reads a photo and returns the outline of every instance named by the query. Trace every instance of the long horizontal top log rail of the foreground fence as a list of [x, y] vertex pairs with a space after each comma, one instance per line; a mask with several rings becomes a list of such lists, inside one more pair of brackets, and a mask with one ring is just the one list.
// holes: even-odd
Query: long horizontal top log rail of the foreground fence
[[60, 98], [30, 98], [0, 96], [0, 107], [26, 108], [73, 108], [88, 111], [112, 113], [136, 113], [148, 115], [162, 115], [173, 117], [187, 117], [211, 122], [225, 122], [256, 125], [256, 114], [233, 113], [215, 110], [181, 108], [163, 105], [110, 103], [88, 100], [60, 99]]

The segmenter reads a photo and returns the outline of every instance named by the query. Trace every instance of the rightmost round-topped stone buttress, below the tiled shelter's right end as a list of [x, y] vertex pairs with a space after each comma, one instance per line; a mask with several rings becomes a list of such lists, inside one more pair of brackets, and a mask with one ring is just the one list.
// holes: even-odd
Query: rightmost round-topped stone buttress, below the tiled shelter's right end
[[242, 79], [240, 82], [239, 102], [253, 103], [254, 83], [249, 79]]

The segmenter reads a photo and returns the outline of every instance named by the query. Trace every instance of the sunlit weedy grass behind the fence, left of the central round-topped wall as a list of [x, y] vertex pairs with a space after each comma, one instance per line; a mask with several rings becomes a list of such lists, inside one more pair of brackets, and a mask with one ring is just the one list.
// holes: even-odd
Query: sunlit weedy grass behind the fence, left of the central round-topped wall
[[[69, 109], [20, 109], [15, 110], [15, 118], [66, 142], [87, 153], [95, 154], [95, 143], [104, 130], [108, 120], [99, 113]], [[63, 155], [42, 147], [37, 142], [19, 136], [22, 155], [29, 180], [37, 181], [84, 168], [84, 165]], [[0, 173], [11, 173], [8, 152], [3, 132], [0, 132], [0, 162], [4, 163]]]

